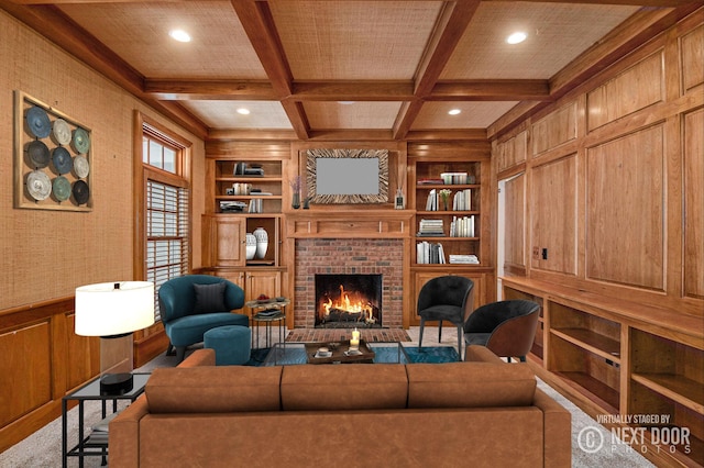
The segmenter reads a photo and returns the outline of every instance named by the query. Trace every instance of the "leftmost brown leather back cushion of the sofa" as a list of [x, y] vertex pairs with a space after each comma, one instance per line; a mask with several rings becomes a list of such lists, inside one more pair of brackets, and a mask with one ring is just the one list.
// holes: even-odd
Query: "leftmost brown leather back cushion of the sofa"
[[278, 411], [280, 367], [154, 369], [144, 389], [150, 413]]

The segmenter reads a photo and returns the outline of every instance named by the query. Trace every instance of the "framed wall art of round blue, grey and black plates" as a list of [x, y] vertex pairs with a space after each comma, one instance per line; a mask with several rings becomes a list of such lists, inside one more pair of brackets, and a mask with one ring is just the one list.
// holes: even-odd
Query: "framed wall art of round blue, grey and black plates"
[[14, 207], [92, 210], [88, 126], [14, 91]]

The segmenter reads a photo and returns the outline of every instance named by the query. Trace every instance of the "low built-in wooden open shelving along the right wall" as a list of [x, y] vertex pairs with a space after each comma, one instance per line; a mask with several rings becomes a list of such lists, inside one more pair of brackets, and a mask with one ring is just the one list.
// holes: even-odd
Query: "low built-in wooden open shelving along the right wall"
[[593, 417], [615, 415], [615, 426], [646, 431], [629, 443], [651, 460], [704, 461], [702, 319], [673, 321], [659, 308], [525, 278], [502, 285], [504, 298], [542, 305], [541, 333], [528, 356], [539, 377]]

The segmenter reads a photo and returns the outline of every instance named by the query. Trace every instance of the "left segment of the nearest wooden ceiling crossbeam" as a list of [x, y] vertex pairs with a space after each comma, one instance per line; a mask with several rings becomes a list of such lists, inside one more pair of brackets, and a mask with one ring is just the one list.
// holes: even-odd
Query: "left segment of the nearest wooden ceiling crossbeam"
[[249, 100], [277, 101], [268, 81], [145, 79], [144, 91], [162, 100]]

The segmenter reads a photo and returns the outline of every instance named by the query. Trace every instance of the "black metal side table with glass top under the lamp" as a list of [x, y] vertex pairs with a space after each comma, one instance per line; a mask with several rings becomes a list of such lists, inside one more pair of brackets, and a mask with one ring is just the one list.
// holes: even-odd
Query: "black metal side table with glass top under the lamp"
[[[102, 457], [102, 465], [107, 464], [108, 441], [90, 433], [86, 434], [84, 403], [88, 400], [100, 401], [102, 403], [102, 419], [105, 419], [108, 415], [108, 402], [112, 400], [112, 413], [116, 413], [119, 400], [133, 402], [144, 392], [144, 386], [146, 386], [151, 374], [133, 374], [133, 376], [134, 386], [124, 394], [101, 394], [100, 379], [97, 378], [62, 399], [62, 464], [64, 468], [68, 465], [68, 457], [78, 457], [78, 466], [81, 468], [84, 457]], [[68, 448], [68, 421], [66, 417], [69, 400], [78, 401], [78, 444], [70, 449]]]

